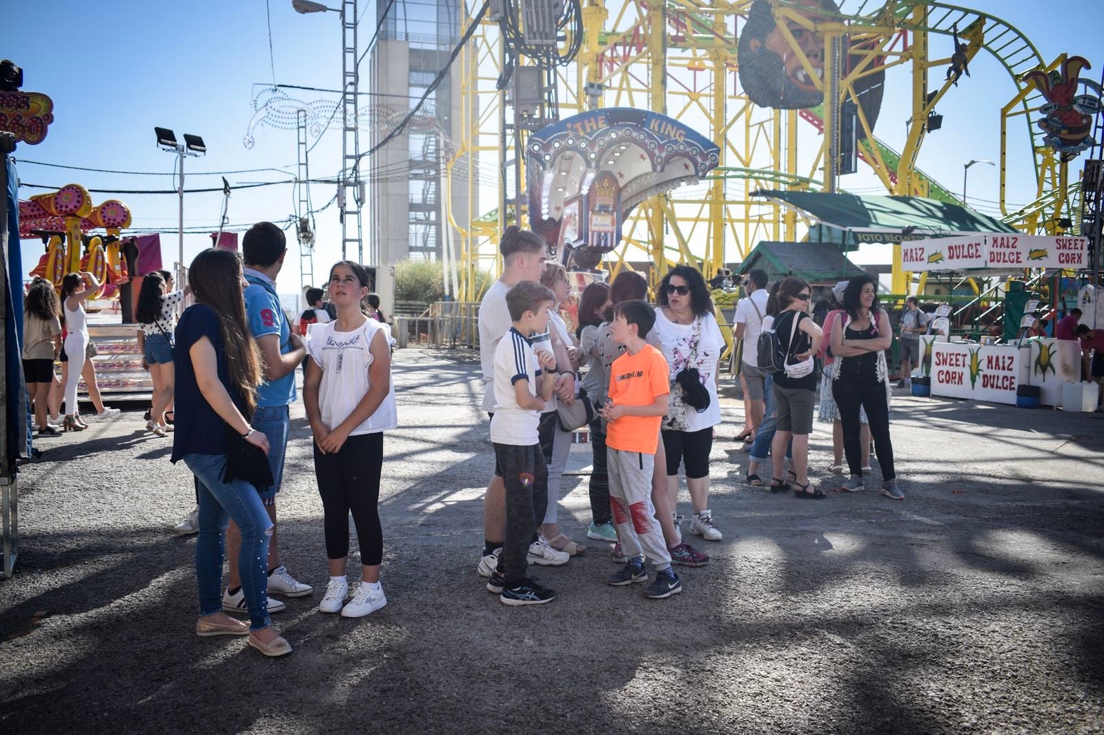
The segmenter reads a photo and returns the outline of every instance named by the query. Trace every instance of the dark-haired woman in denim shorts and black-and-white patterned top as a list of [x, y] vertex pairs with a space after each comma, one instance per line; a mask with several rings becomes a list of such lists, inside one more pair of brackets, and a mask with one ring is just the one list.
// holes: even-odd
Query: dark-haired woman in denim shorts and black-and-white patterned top
[[138, 349], [141, 366], [153, 381], [153, 406], [150, 408], [146, 429], [156, 436], [172, 430], [164, 413], [172, 403], [174, 371], [172, 366], [172, 331], [176, 329], [177, 307], [190, 292], [188, 288], [167, 292], [168, 284], [159, 271], [147, 274], [138, 291], [135, 320], [138, 322]]

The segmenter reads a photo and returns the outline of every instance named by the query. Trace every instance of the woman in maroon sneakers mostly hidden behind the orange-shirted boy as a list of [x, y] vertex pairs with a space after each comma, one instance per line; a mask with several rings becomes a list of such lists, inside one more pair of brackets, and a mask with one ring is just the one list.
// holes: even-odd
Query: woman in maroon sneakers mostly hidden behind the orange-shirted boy
[[[648, 281], [644, 279], [644, 276], [631, 270], [622, 270], [614, 278], [614, 283], [609, 287], [611, 307], [603, 315], [605, 321], [598, 327], [594, 345], [594, 350], [602, 362], [603, 380], [605, 381], [604, 385], [607, 391], [609, 386], [609, 371], [614, 364], [614, 360], [619, 358], [625, 351], [625, 345], [615, 342], [609, 330], [609, 324], [614, 316], [613, 307], [622, 301], [631, 301], [634, 299], [646, 300], [647, 298]], [[667, 551], [671, 554], [671, 563], [683, 566], [704, 566], [709, 563], [709, 554], [703, 554], [682, 541], [677, 518], [668, 499], [667, 451], [664, 448], [662, 432], [659, 435], [655, 462], [656, 466], [651, 478], [651, 504], [656, 508], [656, 520], [659, 521], [659, 528], [664, 532], [664, 542], [667, 544]], [[614, 561], [626, 561], [620, 555], [620, 544], [614, 547]]]

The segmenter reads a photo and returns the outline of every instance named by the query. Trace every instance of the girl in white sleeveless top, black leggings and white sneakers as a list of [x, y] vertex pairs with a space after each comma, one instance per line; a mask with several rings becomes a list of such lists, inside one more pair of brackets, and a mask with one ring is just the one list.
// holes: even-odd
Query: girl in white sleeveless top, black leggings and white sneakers
[[[320, 612], [360, 618], [388, 604], [380, 586], [383, 531], [380, 473], [383, 432], [399, 425], [391, 380], [391, 344], [379, 322], [361, 311], [368, 271], [351, 260], [330, 269], [330, 302], [337, 319], [310, 324], [310, 362], [302, 387], [307, 420], [315, 435], [315, 476], [322, 497], [330, 580]], [[361, 583], [346, 604], [349, 583], [349, 513], [360, 540]]]

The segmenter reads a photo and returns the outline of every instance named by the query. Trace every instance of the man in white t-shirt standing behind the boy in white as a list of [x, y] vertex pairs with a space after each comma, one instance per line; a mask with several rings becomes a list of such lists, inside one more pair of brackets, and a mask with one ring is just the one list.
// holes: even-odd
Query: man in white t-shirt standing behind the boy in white
[[[548, 248], [544, 238], [517, 225], [506, 228], [499, 252], [502, 254], [502, 276], [490, 285], [479, 302], [479, 362], [482, 368], [482, 409], [495, 411], [495, 350], [513, 326], [506, 306], [506, 292], [522, 280], [540, 283]], [[570, 370], [570, 368], [567, 368]], [[566, 372], [556, 380], [556, 396], [571, 401], [575, 393], [574, 373]], [[506, 486], [502, 471], [495, 466], [495, 475], [487, 484], [484, 497], [484, 551], [478, 572], [489, 577], [498, 565], [498, 554], [506, 540]], [[554, 551], [554, 550], [549, 550]], [[550, 554], [551, 555], [551, 554]], [[535, 561], [530, 558], [530, 561]], [[538, 563], [542, 563], [538, 561]]]

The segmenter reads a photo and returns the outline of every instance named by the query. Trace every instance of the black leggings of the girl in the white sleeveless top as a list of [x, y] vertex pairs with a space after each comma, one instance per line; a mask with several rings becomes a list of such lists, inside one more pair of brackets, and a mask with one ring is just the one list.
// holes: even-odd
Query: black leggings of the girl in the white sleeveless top
[[349, 513], [360, 540], [360, 563], [375, 566], [383, 561], [380, 528], [380, 470], [383, 467], [383, 433], [351, 436], [336, 455], [323, 455], [315, 446], [315, 477], [322, 497], [326, 555], [349, 555]]

